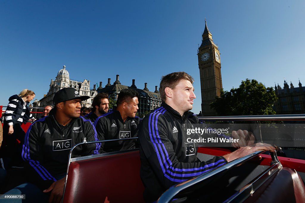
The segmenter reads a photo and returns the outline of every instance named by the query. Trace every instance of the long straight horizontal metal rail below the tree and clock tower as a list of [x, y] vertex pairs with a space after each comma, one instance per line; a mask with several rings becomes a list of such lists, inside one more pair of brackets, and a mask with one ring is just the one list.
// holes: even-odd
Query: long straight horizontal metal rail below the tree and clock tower
[[305, 121], [305, 114], [198, 117], [209, 121]]

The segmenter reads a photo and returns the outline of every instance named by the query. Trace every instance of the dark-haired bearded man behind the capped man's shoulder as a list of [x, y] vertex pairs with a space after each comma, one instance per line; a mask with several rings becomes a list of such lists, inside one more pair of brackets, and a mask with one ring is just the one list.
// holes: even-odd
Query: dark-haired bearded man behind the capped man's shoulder
[[94, 121], [98, 117], [108, 113], [108, 110], [109, 110], [108, 94], [98, 93], [93, 98], [91, 113], [84, 116], [84, 118], [89, 119], [92, 123], [94, 123]]

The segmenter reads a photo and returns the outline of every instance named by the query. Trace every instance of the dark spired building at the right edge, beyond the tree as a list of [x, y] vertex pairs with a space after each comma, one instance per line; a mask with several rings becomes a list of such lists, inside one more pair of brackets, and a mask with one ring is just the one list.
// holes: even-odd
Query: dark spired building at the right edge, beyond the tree
[[294, 87], [284, 80], [284, 88], [275, 85], [275, 94], [278, 100], [275, 102], [276, 114], [305, 114], [305, 87], [299, 80], [299, 87]]

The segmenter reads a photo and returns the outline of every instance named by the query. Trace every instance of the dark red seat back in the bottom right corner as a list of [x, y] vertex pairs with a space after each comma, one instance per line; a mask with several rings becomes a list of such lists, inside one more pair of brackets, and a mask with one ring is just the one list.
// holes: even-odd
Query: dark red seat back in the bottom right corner
[[245, 203], [305, 201], [303, 180], [294, 169], [282, 168], [261, 185]]

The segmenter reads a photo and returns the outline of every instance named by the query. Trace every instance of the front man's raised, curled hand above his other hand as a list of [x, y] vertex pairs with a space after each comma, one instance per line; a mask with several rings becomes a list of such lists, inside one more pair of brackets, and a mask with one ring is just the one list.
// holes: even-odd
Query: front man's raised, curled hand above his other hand
[[253, 145], [255, 141], [253, 133], [246, 130], [232, 131], [232, 137], [239, 139], [238, 142], [232, 142], [232, 147], [236, 148]]

